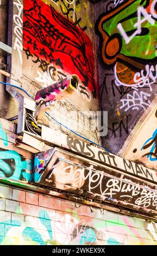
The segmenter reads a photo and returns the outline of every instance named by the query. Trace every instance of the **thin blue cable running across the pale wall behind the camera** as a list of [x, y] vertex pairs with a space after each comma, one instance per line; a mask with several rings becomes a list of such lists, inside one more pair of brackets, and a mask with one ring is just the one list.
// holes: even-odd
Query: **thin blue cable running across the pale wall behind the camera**
[[[30, 95], [26, 92], [26, 90], [24, 90], [24, 89], [21, 88], [21, 87], [15, 86], [14, 84], [11, 84], [11, 83], [4, 83], [4, 82], [0, 82], [0, 83], [6, 84], [7, 86], [12, 86], [12, 87], [18, 88], [18, 89], [22, 90], [22, 92], [26, 93], [29, 97], [32, 98], [32, 96], [30, 96]], [[32, 98], [32, 99], [33, 99], [33, 98]], [[74, 134], [76, 134], [76, 135], [79, 136], [80, 138], [83, 138], [83, 139], [85, 139], [86, 141], [95, 144], [97, 147], [100, 147], [100, 148], [105, 149], [103, 146], [101, 146], [101, 145], [99, 145], [99, 144], [97, 144], [97, 143], [95, 143], [95, 142], [93, 142], [93, 141], [90, 141], [90, 139], [87, 139], [87, 138], [85, 138], [84, 136], [81, 136], [79, 133], [77, 133], [77, 132], [71, 130], [71, 129], [70, 129], [69, 127], [67, 127], [66, 125], [60, 123], [58, 120], [56, 120], [54, 117], [52, 117], [48, 112], [45, 112], [45, 113], [46, 113], [49, 117], [51, 117], [56, 123], [60, 124], [61, 126], [64, 126], [67, 130], [73, 132]], [[109, 150], [107, 150], [107, 149], [105, 149], [105, 150], [106, 150], [108, 153], [112, 154]]]

